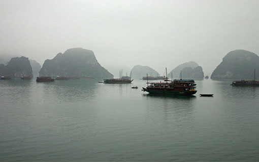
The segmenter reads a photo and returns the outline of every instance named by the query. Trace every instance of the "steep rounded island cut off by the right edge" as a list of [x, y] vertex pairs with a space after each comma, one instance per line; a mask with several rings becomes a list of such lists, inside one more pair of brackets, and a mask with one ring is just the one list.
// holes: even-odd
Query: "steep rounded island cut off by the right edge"
[[253, 78], [254, 69], [259, 75], [259, 57], [249, 51], [235, 50], [223, 57], [222, 62], [211, 74], [211, 78]]

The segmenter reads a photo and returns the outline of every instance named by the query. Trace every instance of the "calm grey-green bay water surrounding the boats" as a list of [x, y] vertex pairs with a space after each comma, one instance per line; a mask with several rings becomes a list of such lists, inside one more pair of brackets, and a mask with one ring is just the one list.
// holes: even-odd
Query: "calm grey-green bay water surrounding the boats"
[[259, 160], [259, 87], [204, 79], [168, 97], [97, 81], [0, 80], [0, 160]]

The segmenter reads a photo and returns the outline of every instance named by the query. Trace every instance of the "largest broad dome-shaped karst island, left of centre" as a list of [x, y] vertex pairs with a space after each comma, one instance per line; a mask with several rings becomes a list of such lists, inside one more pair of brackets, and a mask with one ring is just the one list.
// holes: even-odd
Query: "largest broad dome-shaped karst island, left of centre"
[[102, 67], [94, 53], [82, 48], [58, 53], [52, 60], [45, 60], [40, 76], [93, 76], [111, 78], [113, 75]]

